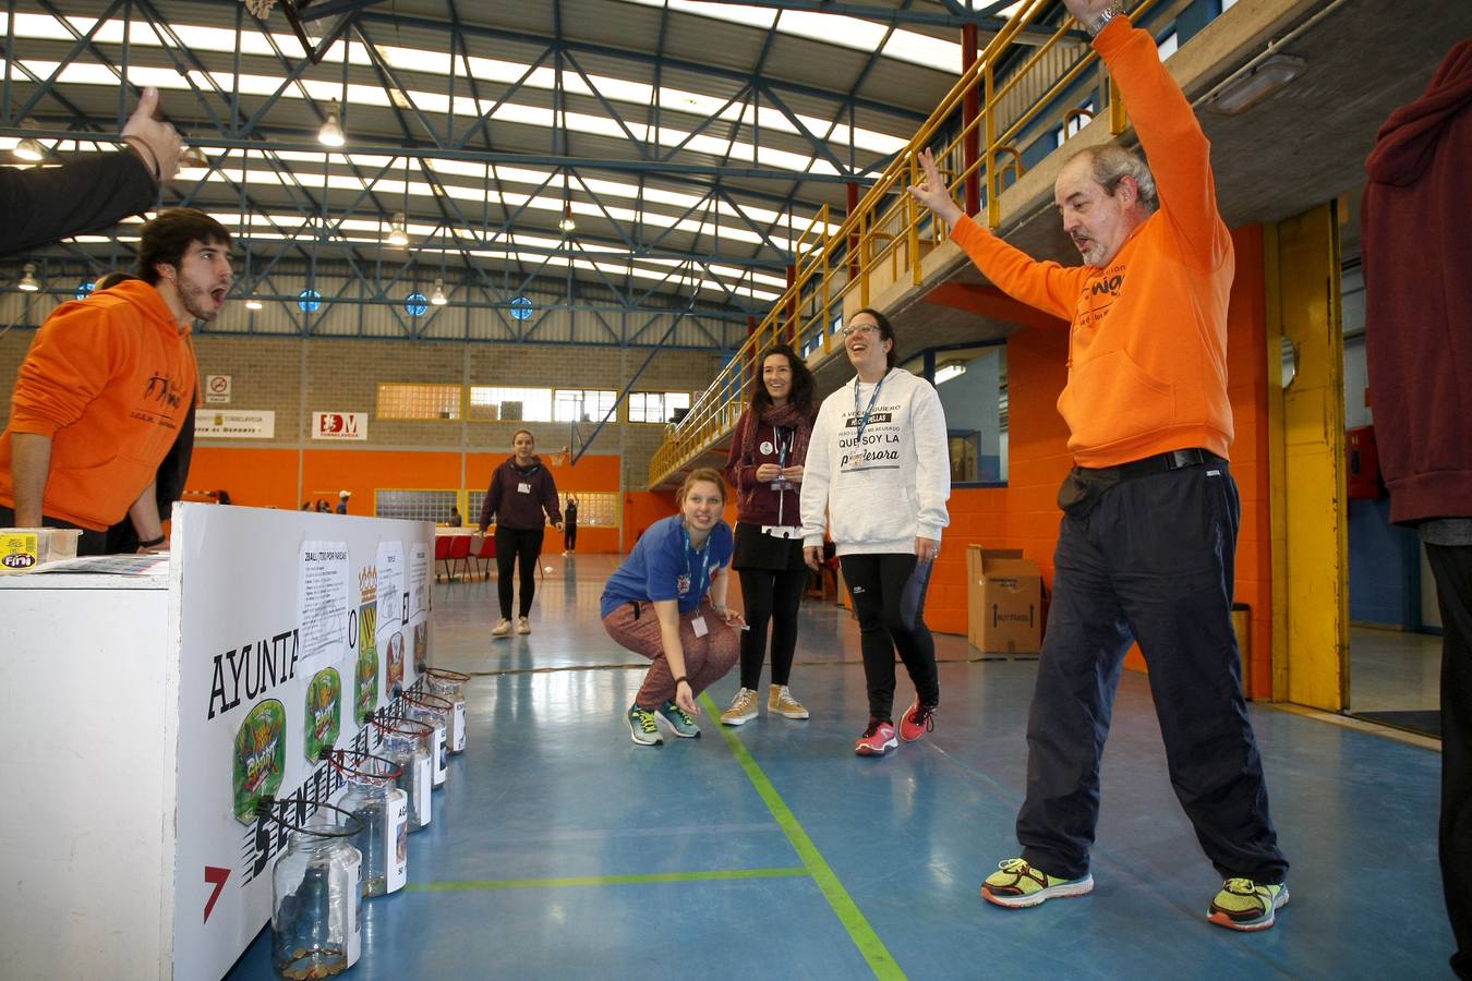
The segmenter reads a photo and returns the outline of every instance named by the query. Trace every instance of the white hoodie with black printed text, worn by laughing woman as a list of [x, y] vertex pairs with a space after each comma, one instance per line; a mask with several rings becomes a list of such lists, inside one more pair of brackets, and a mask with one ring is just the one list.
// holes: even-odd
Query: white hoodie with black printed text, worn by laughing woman
[[941, 540], [949, 497], [945, 410], [930, 382], [891, 368], [877, 397], [855, 377], [823, 400], [802, 468], [804, 546], [823, 544], [826, 516], [838, 554], [913, 553], [916, 538]]

